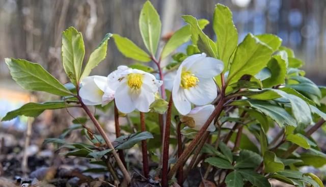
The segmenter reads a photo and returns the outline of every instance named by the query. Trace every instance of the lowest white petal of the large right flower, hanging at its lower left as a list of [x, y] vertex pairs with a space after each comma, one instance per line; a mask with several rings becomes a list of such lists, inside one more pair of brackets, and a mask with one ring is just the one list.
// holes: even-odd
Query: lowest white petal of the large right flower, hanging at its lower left
[[180, 114], [186, 115], [191, 111], [191, 103], [185, 97], [183, 89], [178, 89], [178, 91], [175, 91], [175, 89], [173, 88], [172, 98], [174, 106]]

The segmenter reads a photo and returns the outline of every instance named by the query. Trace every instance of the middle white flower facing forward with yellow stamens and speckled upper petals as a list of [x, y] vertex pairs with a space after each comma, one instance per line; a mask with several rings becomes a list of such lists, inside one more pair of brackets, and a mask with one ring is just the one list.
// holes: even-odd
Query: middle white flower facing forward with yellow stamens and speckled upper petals
[[120, 112], [130, 113], [135, 109], [148, 112], [155, 100], [155, 93], [162, 85], [154, 75], [139, 69], [119, 66], [108, 75], [110, 88], [116, 91], [115, 102]]

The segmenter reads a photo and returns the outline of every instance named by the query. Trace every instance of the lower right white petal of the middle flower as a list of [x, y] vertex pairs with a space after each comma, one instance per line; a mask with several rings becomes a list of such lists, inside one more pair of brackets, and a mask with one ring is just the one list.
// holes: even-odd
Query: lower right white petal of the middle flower
[[144, 88], [141, 88], [139, 93], [133, 93], [131, 95], [132, 101], [135, 105], [135, 108], [140, 112], [148, 112], [149, 106], [154, 102], [155, 96], [154, 93], [147, 91]]

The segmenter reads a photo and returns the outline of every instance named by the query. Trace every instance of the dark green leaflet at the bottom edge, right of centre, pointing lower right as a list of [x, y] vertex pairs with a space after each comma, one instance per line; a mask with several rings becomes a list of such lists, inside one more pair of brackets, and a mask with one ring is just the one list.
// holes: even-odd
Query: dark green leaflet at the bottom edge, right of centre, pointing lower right
[[270, 183], [267, 178], [256, 173], [252, 170], [238, 170], [238, 172], [242, 175], [243, 178], [247, 179], [250, 183], [257, 187], [268, 187]]

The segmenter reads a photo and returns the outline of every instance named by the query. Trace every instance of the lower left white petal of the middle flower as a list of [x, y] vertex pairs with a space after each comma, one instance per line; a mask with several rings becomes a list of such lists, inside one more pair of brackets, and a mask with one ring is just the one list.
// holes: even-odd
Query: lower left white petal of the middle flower
[[117, 88], [115, 101], [118, 110], [122, 113], [127, 114], [135, 109], [131, 96], [129, 95], [129, 87], [126, 84], [122, 84]]

